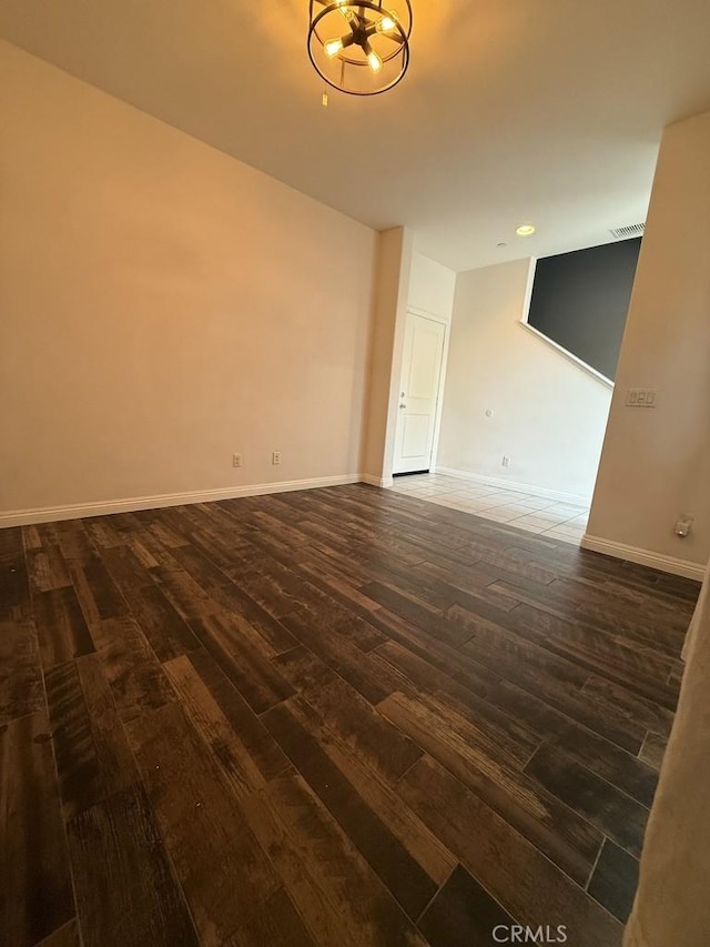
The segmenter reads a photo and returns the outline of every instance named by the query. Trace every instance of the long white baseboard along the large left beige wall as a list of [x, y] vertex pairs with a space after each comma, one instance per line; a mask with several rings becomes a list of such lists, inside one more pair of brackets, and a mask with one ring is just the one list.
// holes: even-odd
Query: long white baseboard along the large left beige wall
[[[239, 496], [263, 496], [267, 493], [286, 493], [292, 490], [314, 490], [318, 486], [342, 486], [348, 483], [361, 483], [363, 480], [365, 478], [361, 474], [345, 474], [311, 480], [288, 480], [282, 483], [226, 486], [221, 490], [203, 490], [195, 493], [163, 493], [155, 496], [132, 496], [126, 500], [77, 503], [67, 506], [10, 510], [0, 513], [0, 528], [29, 526], [32, 523], [55, 523], [59, 520], [82, 520], [87, 516], [105, 516], [110, 513], [132, 513], [135, 510], [158, 510], [161, 506], [185, 506], [189, 503], [210, 503], [215, 500], [234, 500]], [[379, 486], [379, 484], [376, 485]]]

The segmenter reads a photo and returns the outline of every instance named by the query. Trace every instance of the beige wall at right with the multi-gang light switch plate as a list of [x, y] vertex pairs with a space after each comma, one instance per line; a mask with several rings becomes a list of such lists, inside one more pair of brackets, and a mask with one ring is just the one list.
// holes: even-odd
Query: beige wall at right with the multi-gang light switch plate
[[[710, 554], [710, 113], [666, 130], [588, 534], [660, 556]], [[656, 409], [626, 407], [629, 387]], [[694, 516], [687, 540], [672, 533]]]

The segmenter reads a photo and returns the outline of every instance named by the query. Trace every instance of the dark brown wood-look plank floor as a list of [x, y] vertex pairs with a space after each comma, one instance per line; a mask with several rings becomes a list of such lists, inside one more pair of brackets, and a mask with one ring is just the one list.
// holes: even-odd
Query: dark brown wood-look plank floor
[[696, 583], [365, 486], [0, 583], [2, 945], [620, 944]]

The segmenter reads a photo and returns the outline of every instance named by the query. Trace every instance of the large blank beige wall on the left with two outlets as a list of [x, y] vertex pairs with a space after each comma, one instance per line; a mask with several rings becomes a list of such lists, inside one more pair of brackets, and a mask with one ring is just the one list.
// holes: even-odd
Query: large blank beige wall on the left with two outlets
[[0, 128], [0, 510], [359, 473], [373, 231], [4, 42]]

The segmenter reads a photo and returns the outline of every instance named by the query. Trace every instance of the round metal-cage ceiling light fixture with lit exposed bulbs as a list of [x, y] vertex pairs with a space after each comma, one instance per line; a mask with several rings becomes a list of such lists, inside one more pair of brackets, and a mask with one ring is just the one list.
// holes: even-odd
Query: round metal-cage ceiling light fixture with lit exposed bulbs
[[409, 0], [311, 0], [311, 62], [328, 85], [349, 95], [376, 95], [402, 80], [410, 33]]

